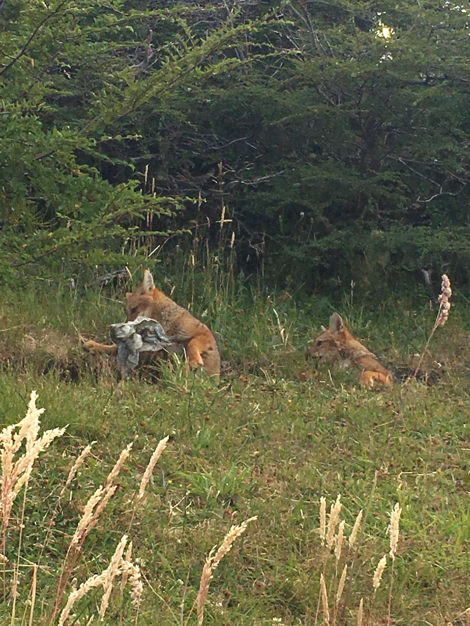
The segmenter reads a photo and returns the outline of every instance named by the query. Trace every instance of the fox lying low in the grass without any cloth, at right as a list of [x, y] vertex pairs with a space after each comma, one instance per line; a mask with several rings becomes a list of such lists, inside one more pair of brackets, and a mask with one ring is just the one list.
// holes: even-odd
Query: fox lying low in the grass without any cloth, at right
[[330, 317], [330, 327], [321, 327], [322, 333], [316, 337], [305, 354], [305, 357], [320, 357], [325, 361], [342, 361], [345, 366], [352, 362], [362, 369], [360, 384], [372, 389], [376, 383], [391, 385], [394, 381], [392, 372], [386, 369], [379, 360], [348, 331], [338, 313]]

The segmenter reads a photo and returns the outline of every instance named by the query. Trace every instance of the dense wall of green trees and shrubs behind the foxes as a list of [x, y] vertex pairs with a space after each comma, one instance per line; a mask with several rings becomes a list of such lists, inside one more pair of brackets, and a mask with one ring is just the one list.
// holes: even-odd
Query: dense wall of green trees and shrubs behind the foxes
[[469, 37], [434, 0], [3, 0], [0, 280], [204, 242], [281, 289], [467, 295]]

